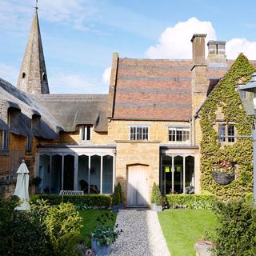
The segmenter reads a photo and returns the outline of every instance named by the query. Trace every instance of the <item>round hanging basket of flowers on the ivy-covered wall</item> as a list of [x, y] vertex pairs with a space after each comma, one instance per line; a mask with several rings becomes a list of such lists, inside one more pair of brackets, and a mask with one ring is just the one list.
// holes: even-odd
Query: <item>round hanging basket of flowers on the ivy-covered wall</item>
[[230, 184], [234, 181], [235, 177], [235, 167], [234, 162], [230, 161], [221, 161], [218, 162], [218, 165], [214, 167], [212, 171], [212, 176], [214, 181], [221, 185]]

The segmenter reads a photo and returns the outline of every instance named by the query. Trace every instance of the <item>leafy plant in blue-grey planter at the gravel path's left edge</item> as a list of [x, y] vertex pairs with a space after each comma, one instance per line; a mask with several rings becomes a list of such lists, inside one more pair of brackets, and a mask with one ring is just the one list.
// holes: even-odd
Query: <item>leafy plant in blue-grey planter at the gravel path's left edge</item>
[[113, 217], [113, 214], [106, 213], [105, 215], [102, 214], [101, 218], [97, 218], [98, 226], [91, 233], [91, 249], [97, 256], [110, 255], [110, 246], [122, 232], [122, 230], [116, 230], [118, 224], [115, 226], [116, 229], [107, 225], [107, 222], [110, 219], [113, 220]]

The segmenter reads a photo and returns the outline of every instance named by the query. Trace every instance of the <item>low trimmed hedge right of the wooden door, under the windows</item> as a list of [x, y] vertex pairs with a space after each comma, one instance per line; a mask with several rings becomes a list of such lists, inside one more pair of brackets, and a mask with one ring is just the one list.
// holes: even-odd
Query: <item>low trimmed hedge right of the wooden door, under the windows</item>
[[212, 209], [217, 202], [214, 194], [166, 194], [170, 208]]

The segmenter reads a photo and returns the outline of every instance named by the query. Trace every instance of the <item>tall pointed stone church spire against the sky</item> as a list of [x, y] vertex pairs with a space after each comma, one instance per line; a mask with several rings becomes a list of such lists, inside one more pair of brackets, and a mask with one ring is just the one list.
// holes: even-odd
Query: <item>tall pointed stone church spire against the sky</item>
[[42, 39], [38, 22], [38, 7], [35, 7], [30, 36], [18, 76], [18, 89], [26, 94], [49, 94], [46, 63], [42, 50]]

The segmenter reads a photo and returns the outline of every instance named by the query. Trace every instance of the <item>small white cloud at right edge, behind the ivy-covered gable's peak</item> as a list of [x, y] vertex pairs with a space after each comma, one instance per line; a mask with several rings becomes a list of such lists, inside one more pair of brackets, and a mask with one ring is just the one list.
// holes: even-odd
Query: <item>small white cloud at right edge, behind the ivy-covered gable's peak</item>
[[256, 59], [256, 42], [250, 42], [246, 38], [233, 38], [226, 42], [226, 56], [235, 59], [243, 53], [249, 59]]

